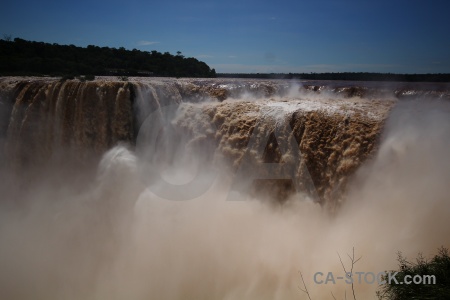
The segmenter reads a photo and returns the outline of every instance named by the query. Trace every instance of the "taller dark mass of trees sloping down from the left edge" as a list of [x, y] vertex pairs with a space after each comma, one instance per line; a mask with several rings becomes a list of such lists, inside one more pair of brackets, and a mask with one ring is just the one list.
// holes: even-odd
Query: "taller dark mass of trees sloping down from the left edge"
[[1, 75], [216, 77], [216, 72], [181, 52], [172, 55], [93, 45], [83, 48], [5, 38], [0, 40]]

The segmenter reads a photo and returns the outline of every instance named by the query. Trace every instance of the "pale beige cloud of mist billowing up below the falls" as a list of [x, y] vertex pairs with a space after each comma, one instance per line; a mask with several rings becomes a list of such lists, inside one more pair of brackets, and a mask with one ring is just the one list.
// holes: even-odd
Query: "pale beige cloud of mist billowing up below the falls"
[[[313, 282], [319, 271], [343, 276], [337, 253], [349, 267], [354, 247], [354, 271], [378, 273], [396, 268], [397, 251], [450, 246], [449, 132], [449, 103], [399, 102], [335, 216], [301, 195], [279, 206], [226, 201], [226, 174], [196, 199], [159, 198], [125, 146], [82, 188], [72, 183], [83, 174], [55, 185], [42, 171], [38, 183], [3, 188], [2, 199], [22, 205], [0, 210], [2, 298], [307, 299], [299, 272], [313, 299], [350, 297], [343, 282]], [[376, 289], [355, 285], [358, 299]]]

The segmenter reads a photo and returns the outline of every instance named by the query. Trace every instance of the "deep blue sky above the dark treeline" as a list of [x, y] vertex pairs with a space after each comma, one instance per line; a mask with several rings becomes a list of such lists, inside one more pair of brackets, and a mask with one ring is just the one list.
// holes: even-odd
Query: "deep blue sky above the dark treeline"
[[0, 34], [181, 51], [217, 72], [450, 73], [450, 0], [3, 0]]

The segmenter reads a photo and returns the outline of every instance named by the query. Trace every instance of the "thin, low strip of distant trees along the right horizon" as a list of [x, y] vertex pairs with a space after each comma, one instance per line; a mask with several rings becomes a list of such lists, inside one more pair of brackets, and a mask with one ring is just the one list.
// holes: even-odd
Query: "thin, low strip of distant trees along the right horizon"
[[450, 82], [450, 74], [342, 73], [219, 73], [221, 78], [305, 79], [346, 81]]

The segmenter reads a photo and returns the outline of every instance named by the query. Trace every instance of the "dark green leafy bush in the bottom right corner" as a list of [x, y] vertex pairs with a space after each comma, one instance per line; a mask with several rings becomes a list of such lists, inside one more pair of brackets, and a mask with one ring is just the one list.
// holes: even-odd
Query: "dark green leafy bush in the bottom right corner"
[[[438, 254], [430, 261], [419, 254], [416, 262], [407, 261], [401, 253], [398, 254], [399, 270], [391, 271], [391, 274], [398, 272], [396, 281], [391, 280], [385, 285], [381, 285], [377, 292], [378, 299], [386, 300], [411, 300], [411, 299], [450, 299], [450, 256], [448, 249], [442, 247]], [[405, 278], [408, 276], [408, 278]], [[414, 276], [434, 275], [435, 284], [404, 284], [405, 279], [411, 282]], [[388, 281], [388, 276], [383, 278]], [[403, 284], [402, 284], [403, 283]]]

